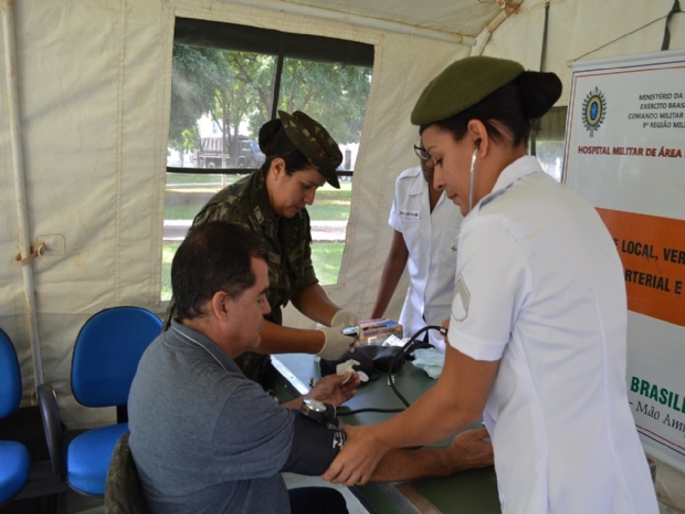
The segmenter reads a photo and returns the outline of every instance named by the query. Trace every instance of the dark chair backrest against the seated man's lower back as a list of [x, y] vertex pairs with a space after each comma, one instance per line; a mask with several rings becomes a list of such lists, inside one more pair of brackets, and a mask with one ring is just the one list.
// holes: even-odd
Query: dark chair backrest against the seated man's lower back
[[122, 434], [112, 453], [105, 484], [106, 514], [148, 513], [128, 436], [128, 432]]

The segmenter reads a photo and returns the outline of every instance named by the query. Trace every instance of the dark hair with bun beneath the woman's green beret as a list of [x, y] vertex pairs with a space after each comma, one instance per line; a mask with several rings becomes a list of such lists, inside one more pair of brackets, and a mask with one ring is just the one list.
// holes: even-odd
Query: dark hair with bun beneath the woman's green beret
[[560, 95], [561, 81], [554, 73], [523, 72], [477, 104], [446, 119], [422, 125], [420, 132], [436, 125], [452, 134], [455, 140], [461, 140], [466, 134], [468, 122], [479, 119], [493, 140], [505, 140], [504, 128], [516, 147], [528, 143], [533, 119], [547, 113]]

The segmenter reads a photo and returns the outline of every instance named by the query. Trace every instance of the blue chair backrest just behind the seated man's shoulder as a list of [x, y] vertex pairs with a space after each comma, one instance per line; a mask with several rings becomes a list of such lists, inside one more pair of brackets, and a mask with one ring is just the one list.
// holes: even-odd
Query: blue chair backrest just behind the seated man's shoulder
[[74, 344], [72, 390], [87, 407], [125, 406], [138, 361], [161, 322], [141, 307], [114, 307], [92, 316]]

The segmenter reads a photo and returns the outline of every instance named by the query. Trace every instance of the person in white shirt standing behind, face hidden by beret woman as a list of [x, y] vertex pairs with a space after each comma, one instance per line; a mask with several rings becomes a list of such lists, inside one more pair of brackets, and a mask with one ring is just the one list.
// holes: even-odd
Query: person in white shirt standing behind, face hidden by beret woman
[[[418, 153], [425, 151], [421, 138], [414, 148]], [[410, 283], [399, 318], [404, 337], [425, 325], [440, 326], [450, 316], [462, 220], [459, 207], [444, 191], [433, 187], [431, 159], [421, 159], [421, 166], [402, 171], [396, 182], [388, 220], [394, 234], [371, 312], [372, 319], [384, 315], [405, 268]], [[425, 340], [444, 354], [442, 334], [429, 331]]]

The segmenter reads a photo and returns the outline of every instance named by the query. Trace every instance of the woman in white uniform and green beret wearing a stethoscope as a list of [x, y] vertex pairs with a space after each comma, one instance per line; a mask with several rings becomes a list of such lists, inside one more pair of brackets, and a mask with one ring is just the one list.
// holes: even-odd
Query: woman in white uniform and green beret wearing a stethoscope
[[596, 210], [526, 156], [554, 74], [468, 57], [419, 98], [435, 186], [465, 216], [445, 367], [393, 419], [349, 428], [324, 478], [366, 483], [389, 448], [426, 444], [483, 415], [505, 514], [656, 514], [625, 382], [626, 298]]

